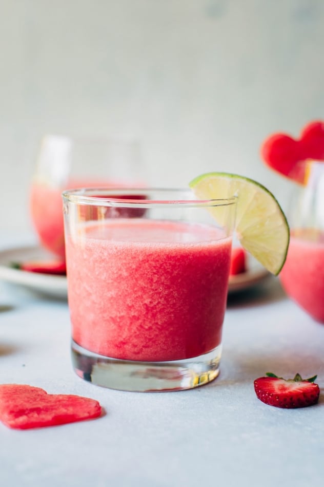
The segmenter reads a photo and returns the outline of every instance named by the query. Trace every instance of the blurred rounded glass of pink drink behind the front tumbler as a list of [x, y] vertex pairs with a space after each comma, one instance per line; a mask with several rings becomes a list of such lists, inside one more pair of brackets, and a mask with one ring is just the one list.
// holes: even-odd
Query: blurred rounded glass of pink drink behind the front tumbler
[[65, 258], [64, 190], [144, 182], [140, 145], [135, 140], [46, 135], [30, 189], [30, 213], [40, 244]]

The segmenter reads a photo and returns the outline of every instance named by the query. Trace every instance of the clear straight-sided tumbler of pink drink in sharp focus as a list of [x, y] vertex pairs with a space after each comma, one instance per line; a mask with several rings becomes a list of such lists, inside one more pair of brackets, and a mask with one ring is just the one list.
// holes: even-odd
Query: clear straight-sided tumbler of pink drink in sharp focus
[[215, 379], [236, 198], [191, 191], [63, 194], [72, 362], [122, 390], [180, 390]]

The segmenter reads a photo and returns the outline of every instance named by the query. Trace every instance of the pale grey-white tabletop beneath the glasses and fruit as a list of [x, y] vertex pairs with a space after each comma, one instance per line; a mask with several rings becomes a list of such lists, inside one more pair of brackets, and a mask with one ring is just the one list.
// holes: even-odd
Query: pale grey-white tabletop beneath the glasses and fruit
[[[88, 396], [105, 409], [99, 419], [57, 427], [0, 423], [4, 487], [324, 485], [324, 326], [285, 297], [277, 278], [229, 299], [220, 375], [193, 390], [94, 386], [73, 372], [69, 340], [64, 299], [0, 281], [0, 383]], [[261, 403], [253, 380], [267, 371], [317, 373], [319, 403]]]

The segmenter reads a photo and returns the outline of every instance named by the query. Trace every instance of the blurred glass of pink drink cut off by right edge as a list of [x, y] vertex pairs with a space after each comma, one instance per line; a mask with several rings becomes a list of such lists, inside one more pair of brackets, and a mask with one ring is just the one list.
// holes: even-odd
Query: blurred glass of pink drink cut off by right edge
[[296, 186], [288, 219], [291, 228], [283, 289], [316, 321], [324, 323], [324, 163], [301, 166], [305, 186]]

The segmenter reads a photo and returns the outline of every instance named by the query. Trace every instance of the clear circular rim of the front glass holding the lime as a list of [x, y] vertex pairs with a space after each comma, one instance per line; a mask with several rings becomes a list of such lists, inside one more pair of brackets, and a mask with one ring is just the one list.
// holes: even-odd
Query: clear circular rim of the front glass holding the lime
[[[169, 195], [172, 194], [188, 194], [192, 198], [167, 198], [167, 199], [140, 199], [138, 196], [147, 196], [148, 193], [161, 193]], [[100, 195], [100, 193], [102, 195]], [[133, 197], [132, 197], [133, 196]], [[213, 199], [195, 199], [190, 188], [152, 188], [145, 187], [131, 187], [131, 188], [77, 188], [69, 189], [62, 192], [62, 197], [65, 202], [75, 204], [88, 204], [102, 207], [220, 207], [236, 204], [237, 196], [233, 195], [228, 198], [213, 198]]]

